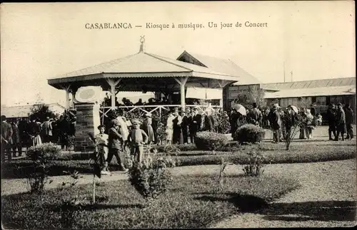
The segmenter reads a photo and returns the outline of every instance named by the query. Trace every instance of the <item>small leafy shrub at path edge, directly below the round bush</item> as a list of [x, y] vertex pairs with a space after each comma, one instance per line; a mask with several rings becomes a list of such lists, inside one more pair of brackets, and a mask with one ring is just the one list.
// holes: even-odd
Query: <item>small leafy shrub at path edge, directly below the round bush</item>
[[263, 174], [264, 157], [261, 152], [248, 152], [248, 164], [243, 167], [244, 175], [258, 177]]

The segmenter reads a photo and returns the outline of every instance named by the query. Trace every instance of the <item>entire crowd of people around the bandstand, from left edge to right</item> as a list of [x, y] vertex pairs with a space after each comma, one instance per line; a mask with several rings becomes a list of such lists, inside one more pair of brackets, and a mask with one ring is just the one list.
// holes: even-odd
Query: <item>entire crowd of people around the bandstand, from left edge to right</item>
[[[127, 102], [125, 98], [124, 101]], [[99, 139], [93, 140], [97, 143], [109, 142], [109, 150], [105, 151], [108, 155], [105, 162], [111, 162], [111, 158], [116, 156], [121, 164], [120, 162], [123, 161], [119, 152], [126, 150], [129, 145], [131, 152], [142, 152], [144, 143], [159, 144], [162, 140], [159, 137], [160, 130], [164, 132], [166, 144], [174, 145], [194, 143], [194, 137], [200, 131], [217, 132], [216, 113], [209, 107], [204, 111], [200, 108], [186, 108], [186, 110], [175, 108], [169, 112], [165, 125], [158, 120], [153, 120], [151, 113], [146, 113], [142, 122], [139, 120], [131, 122], [130, 119], [124, 117], [123, 113], [120, 113], [109, 124], [98, 127], [100, 136], [97, 138]], [[291, 129], [296, 125], [300, 131], [300, 139], [311, 139], [315, 127], [322, 123], [321, 115], [316, 115], [313, 108], [296, 108], [293, 105], [281, 108], [278, 104], [274, 104], [271, 108], [261, 110], [256, 103], [253, 103], [252, 108], [247, 109], [246, 113], [242, 114], [235, 108], [231, 108], [230, 112], [224, 111], [222, 114], [221, 117], [230, 126], [232, 136], [238, 127], [251, 123], [271, 129], [275, 143], [290, 137]], [[353, 110], [350, 105], [347, 104], [344, 108], [341, 103], [338, 103], [337, 107], [329, 105], [327, 117], [329, 140], [339, 140], [340, 135], [341, 139], [345, 140], [345, 133], [346, 139], [353, 139]], [[140, 131], [137, 131], [138, 129]], [[23, 147], [36, 146], [42, 142], [59, 143], [61, 150], [66, 150], [69, 147], [69, 137], [74, 135], [75, 120], [71, 120], [66, 114], [61, 115], [59, 119], [46, 117], [43, 122], [35, 118], [9, 121], [3, 115], [1, 116], [1, 160], [4, 160], [5, 152], [11, 160], [12, 157], [16, 157], [16, 152], [22, 155]], [[105, 135], [108, 136], [108, 141], [101, 141], [107, 138]], [[133, 145], [133, 143], [136, 144]], [[99, 149], [101, 150], [101, 147]], [[138, 159], [140, 160], [141, 157]], [[123, 164], [121, 167], [125, 170]], [[104, 172], [108, 172], [105, 165]]]

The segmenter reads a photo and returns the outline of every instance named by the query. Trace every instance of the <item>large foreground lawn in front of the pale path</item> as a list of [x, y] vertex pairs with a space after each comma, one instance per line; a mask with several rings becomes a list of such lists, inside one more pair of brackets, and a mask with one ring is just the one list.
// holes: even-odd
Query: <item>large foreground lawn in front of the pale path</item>
[[[204, 228], [239, 211], [266, 207], [299, 184], [287, 177], [231, 175], [224, 192], [217, 192], [217, 187], [218, 175], [174, 177], [169, 191], [150, 207], [126, 180], [100, 184], [94, 206], [89, 202], [91, 185], [51, 189], [42, 195], [13, 194], [1, 197], [2, 224], [6, 229], [61, 228], [61, 199], [78, 195], [86, 200], [74, 216], [74, 229]], [[67, 216], [66, 224], [68, 220]]]

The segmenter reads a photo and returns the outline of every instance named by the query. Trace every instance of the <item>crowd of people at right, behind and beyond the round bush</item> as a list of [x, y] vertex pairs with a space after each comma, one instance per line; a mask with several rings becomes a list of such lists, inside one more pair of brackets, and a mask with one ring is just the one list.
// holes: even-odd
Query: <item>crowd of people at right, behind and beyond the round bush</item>
[[[258, 125], [271, 129], [273, 132], [273, 142], [283, 142], [287, 138], [293, 138], [294, 135], [291, 128], [296, 126], [299, 131], [299, 139], [312, 139], [313, 130], [316, 126], [322, 125], [321, 114], [316, 114], [315, 109], [311, 108], [296, 108], [289, 105], [287, 108], [281, 108], [278, 104], [274, 104], [271, 108], [265, 111], [258, 109], [256, 103], [253, 103], [253, 108], [246, 111], [246, 115], [238, 113], [236, 110], [231, 110], [230, 124], [231, 133], [233, 135], [236, 129], [246, 123]], [[341, 103], [337, 106], [331, 104], [327, 111], [328, 117], [328, 136], [329, 140], [353, 139], [353, 110], [349, 104], [343, 108]], [[333, 134], [333, 137], [332, 137]], [[344, 135], [346, 134], [346, 138]]]

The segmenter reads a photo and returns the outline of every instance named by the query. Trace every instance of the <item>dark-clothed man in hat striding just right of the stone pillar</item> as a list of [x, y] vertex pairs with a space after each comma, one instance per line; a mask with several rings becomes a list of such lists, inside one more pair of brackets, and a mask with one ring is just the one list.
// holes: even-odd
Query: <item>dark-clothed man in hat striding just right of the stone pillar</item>
[[108, 158], [106, 159], [107, 164], [110, 164], [111, 159], [113, 156], [116, 157], [116, 161], [118, 162], [119, 166], [121, 167], [121, 171], [128, 172], [128, 169], [124, 167], [123, 159], [121, 158], [121, 139], [122, 136], [119, 134], [119, 121], [114, 119], [111, 120], [112, 127], [108, 131]]

